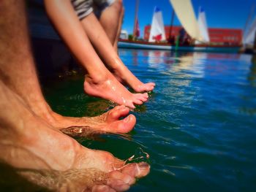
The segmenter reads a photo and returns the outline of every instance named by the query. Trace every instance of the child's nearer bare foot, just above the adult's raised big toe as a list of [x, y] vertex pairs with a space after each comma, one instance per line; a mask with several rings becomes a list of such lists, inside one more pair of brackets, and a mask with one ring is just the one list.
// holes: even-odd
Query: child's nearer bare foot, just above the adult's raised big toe
[[124, 104], [132, 109], [135, 108], [135, 104], [143, 104], [148, 99], [147, 93], [130, 93], [112, 74], [108, 74], [105, 80], [97, 82], [87, 76], [84, 90], [91, 96], [101, 97], [116, 104]]

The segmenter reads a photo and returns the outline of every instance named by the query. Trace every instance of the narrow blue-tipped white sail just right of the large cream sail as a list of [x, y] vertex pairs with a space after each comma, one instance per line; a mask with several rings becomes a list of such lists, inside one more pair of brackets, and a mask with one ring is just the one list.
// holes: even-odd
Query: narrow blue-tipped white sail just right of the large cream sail
[[202, 7], [199, 7], [197, 22], [199, 26], [200, 35], [203, 38], [203, 42], [210, 42], [208, 26], [206, 23], [206, 12], [203, 10]]

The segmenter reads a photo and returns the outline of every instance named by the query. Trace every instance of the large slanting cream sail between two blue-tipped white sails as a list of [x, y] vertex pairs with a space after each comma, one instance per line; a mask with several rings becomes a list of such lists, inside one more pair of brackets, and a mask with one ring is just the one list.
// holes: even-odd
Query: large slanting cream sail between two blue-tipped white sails
[[198, 41], [203, 41], [200, 35], [199, 26], [197, 19], [195, 18], [195, 12], [192, 7], [190, 0], [170, 0], [174, 11], [181, 22], [181, 25], [187, 31], [190, 37], [197, 39]]

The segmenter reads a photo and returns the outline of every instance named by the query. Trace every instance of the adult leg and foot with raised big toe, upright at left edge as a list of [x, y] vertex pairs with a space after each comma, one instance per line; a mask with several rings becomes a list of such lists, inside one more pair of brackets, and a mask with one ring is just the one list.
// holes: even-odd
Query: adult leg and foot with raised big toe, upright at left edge
[[[17, 12], [17, 10], [19, 10]], [[116, 107], [95, 118], [64, 118], [54, 113], [45, 101], [31, 55], [23, 1], [0, 2], [0, 72], [12, 91], [18, 93], [38, 116], [56, 128], [89, 126], [93, 130], [124, 133], [135, 125], [134, 115], [127, 107]]]

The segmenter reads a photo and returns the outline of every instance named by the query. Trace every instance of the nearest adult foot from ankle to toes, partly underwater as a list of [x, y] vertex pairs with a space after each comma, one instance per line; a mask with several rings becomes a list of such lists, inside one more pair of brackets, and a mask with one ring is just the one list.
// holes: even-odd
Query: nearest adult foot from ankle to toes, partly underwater
[[[24, 128], [29, 133], [24, 130], [18, 137], [12, 133], [13, 139], [5, 138], [1, 142], [1, 157], [7, 164], [25, 170], [19, 173], [37, 185], [53, 191], [69, 191], [70, 188], [75, 191], [127, 191], [136, 178], [149, 172], [146, 163], [124, 165], [124, 161], [112, 154], [89, 150], [46, 125], [34, 120], [29, 124], [34, 126], [29, 128], [25, 123]], [[12, 145], [5, 145], [7, 142]], [[33, 169], [43, 171], [34, 175]], [[59, 171], [54, 182], [48, 177], [51, 171]]]

